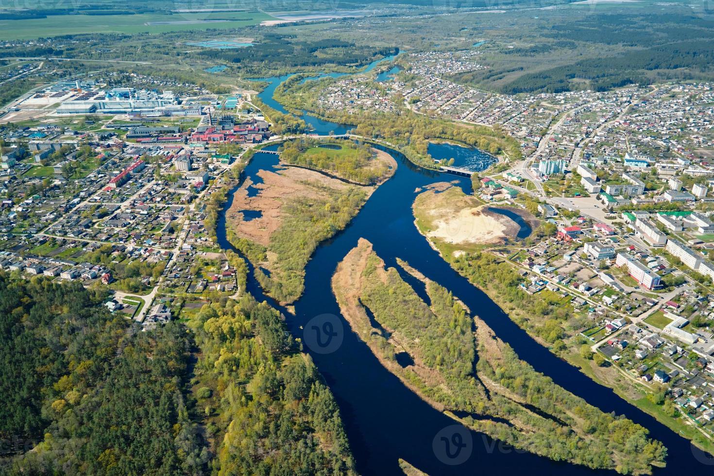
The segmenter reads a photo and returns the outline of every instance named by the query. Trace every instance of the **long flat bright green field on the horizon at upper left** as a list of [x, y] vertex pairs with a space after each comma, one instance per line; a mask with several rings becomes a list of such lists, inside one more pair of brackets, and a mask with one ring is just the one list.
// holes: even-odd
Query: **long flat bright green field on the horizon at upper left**
[[29, 40], [84, 33], [166, 33], [230, 29], [259, 24], [272, 16], [260, 11], [206, 14], [62, 15], [0, 21], [0, 40]]

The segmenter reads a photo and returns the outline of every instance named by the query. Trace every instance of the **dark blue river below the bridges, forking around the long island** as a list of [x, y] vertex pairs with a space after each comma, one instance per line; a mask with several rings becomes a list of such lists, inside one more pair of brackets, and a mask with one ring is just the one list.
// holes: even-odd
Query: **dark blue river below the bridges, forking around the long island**
[[[509, 343], [519, 357], [545, 373], [553, 381], [575, 395], [585, 398], [604, 412], [625, 415], [650, 430], [650, 437], [662, 441], [669, 450], [668, 468], [655, 470], [655, 475], [711, 474], [712, 467], [693, 457], [688, 440], [676, 435], [653, 417], [615, 395], [612, 390], [590, 380], [576, 368], [560, 360], [519, 328], [481, 290], [456, 273], [426, 242], [413, 224], [411, 204], [415, 189], [438, 181], [453, 181], [454, 176], [426, 171], [413, 166], [401, 153], [390, 151], [399, 166], [394, 176], [380, 186], [346, 230], [318, 247], [306, 267], [305, 293], [295, 303], [295, 317], [288, 314], [288, 329], [302, 336], [301, 326], [311, 318], [329, 313], [340, 315], [331, 292], [331, 276], [336, 265], [366, 238], [388, 266], [396, 258], [408, 261], [428, 278], [446, 286], [486, 321], [499, 338]], [[275, 160], [271, 154], [256, 154], [246, 168], [246, 176]], [[470, 192], [468, 178], [457, 179], [464, 191]], [[226, 203], [233, 200], [232, 193]], [[218, 243], [231, 248], [226, 240], [225, 216], [218, 220]], [[270, 298], [263, 294], [248, 265], [247, 290], [258, 300]], [[273, 303], [274, 304], [274, 303]], [[277, 308], [280, 308], [276, 305]], [[284, 313], [284, 310], [283, 310]], [[336, 352], [321, 355], [311, 353], [321, 374], [334, 393], [345, 423], [347, 435], [356, 459], [357, 469], [364, 475], [403, 475], [398, 458], [411, 462], [431, 475], [593, 475], [614, 472], [588, 470], [585, 467], [554, 462], [530, 453], [494, 450], [484, 435], [471, 432], [473, 453], [458, 466], [444, 465], [434, 455], [432, 440], [454, 420], [423, 402], [394, 375], [385, 370], [371, 350], [343, 323], [343, 343]], [[307, 349], [306, 349], [307, 350]]]

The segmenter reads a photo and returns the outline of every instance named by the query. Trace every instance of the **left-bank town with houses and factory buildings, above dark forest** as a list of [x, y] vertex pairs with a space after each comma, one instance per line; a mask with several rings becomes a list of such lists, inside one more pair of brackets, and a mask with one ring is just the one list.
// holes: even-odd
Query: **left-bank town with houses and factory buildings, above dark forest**
[[204, 226], [206, 206], [271, 133], [236, 95], [137, 81], [155, 87], [59, 81], [9, 108], [0, 268], [107, 288], [107, 307], [146, 330], [238, 291], [234, 265]]

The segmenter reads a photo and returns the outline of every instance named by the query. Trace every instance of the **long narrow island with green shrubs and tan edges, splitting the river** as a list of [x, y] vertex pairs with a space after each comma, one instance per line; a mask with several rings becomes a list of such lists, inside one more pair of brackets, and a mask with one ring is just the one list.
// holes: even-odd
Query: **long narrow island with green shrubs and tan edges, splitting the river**
[[[645, 428], [535, 372], [431, 280], [425, 303], [395, 268], [385, 268], [368, 241], [360, 240], [338, 265], [333, 291], [353, 330], [388, 370], [474, 430], [554, 460], [623, 474], [663, 465], [666, 449]], [[399, 363], [403, 353], [411, 363]]]

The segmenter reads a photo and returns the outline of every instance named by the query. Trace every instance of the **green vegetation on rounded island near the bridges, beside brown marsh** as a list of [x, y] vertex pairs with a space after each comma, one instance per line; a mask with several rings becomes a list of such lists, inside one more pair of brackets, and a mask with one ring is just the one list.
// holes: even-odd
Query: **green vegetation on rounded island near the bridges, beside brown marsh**
[[[319, 143], [309, 139], [288, 141], [283, 146], [281, 161], [316, 169], [311, 173], [325, 170], [366, 183], [377, 183], [393, 173], [385, 161], [368, 158], [371, 156], [368, 146], [338, 141], [335, 145], [340, 149], [336, 150], [319, 148]], [[258, 283], [283, 303], [292, 303], [303, 293], [305, 266], [319, 243], [343, 230], [375, 190], [374, 186], [342, 186], [332, 178], [327, 182], [303, 180], [298, 185], [305, 188], [304, 194], [288, 193], [278, 198], [280, 223], [270, 233], [268, 243], [241, 236], [235, 227], [227, 230], [228, 240], [256, 265]], [[225, 198], [217, 200], [221, 203]]]

